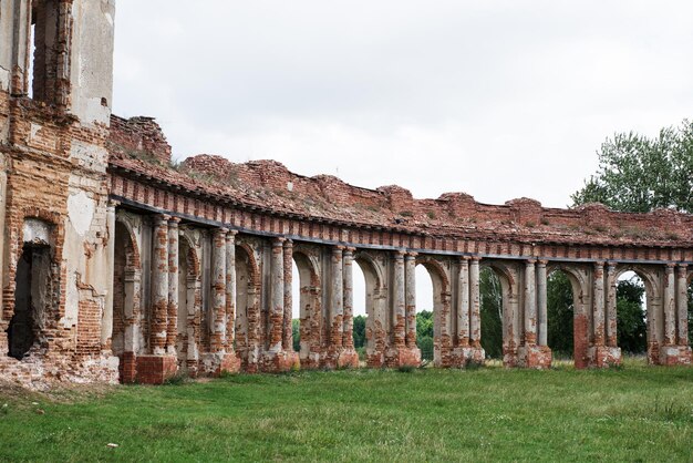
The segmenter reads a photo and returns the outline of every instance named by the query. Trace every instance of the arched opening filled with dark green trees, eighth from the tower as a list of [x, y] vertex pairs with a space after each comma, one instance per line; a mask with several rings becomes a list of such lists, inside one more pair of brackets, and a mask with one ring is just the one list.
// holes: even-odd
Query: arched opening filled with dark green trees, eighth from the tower
[[575, 292], [571, 277], [562, 269], [554, 269], [547, 277], [547, 344], [551, 349], [554, 366], [575, 364]]

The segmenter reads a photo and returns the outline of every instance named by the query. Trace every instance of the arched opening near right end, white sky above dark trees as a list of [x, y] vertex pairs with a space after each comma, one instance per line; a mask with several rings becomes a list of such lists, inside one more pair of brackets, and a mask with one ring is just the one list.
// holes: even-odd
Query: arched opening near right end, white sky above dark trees
[[[617, 282], [617, 340], [623, 354], [631, 360], [645, 360], [648, 340], [656, 338], [656, 328], [648, 315], [648, 288], [639, 271], [625, 270]], [[659, 356], [659, 353], [656, 354]]]

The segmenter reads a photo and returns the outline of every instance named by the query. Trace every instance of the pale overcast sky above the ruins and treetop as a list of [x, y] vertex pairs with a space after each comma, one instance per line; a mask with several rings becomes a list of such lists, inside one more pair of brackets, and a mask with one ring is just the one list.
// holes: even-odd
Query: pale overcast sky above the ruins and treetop
[[563, 207], [607, 136], [693, 116], [691, 1], [116, 4], [114, 112], [178, 158]]

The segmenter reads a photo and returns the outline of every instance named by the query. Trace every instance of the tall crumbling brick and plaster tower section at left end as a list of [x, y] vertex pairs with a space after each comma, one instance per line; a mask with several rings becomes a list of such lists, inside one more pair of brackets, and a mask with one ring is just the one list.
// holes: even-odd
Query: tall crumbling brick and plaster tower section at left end
[[115, 381], [114, 0], [0, 0], [0, 375]]

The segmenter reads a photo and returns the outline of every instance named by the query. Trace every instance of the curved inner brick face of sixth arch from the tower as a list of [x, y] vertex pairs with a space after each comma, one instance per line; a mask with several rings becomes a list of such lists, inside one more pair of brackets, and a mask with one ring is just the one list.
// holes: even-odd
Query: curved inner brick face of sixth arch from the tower
[[449, 367], [454, 332], [449, 278], [434, 257], [420, 256], [416, 265], [426, 269], [433, 284], [433, 362], [437, 367]]

